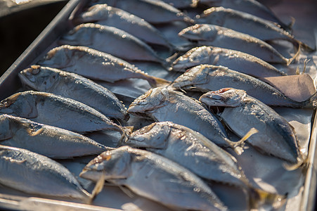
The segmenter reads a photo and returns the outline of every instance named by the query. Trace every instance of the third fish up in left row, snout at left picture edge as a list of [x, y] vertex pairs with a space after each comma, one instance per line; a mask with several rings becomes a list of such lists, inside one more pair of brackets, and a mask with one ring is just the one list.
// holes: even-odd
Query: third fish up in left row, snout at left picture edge
[[0, 113], [25, 117], [51, 126], [85, 133], [98, 130], [123, 128], [108, 117], [84, 103], [56, 94], [39, 91], [23, 91], [0, 102]]

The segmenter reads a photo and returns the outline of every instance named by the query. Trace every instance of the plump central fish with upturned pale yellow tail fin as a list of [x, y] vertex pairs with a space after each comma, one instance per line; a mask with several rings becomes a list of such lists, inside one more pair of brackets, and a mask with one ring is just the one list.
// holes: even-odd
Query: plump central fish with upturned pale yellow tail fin
[[228, 139], [226, 130], [215, 115], [206, 110], [199, 101], [169, 87], [150, 89], [136, 98], [129, 106], [128, 113], [148, 117], [155, 122], [170, 121], [181, 124], [204, 135], [219, 146], [235, 148], [239, 142]]

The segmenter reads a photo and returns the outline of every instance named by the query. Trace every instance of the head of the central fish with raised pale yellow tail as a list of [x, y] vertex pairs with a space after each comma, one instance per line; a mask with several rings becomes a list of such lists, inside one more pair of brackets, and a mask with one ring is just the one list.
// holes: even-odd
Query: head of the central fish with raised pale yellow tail
[[128, 113], [134, 113], [136, 115], [150, 113], [151, 110], [165, 106], [168, 98], [169, 90], [167, 87], [150, 89], [131, 103], [128, 108]]

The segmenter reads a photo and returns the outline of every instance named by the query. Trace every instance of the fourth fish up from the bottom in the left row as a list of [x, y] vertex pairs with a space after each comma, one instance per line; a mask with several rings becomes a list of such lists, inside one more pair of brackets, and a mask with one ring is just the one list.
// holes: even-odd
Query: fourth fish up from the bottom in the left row
[[106, 117], [129, 120], [127, 109], [111, 91], [100, 84], [72, 72], [32, 65], [19, 72], [22, 84], [35, 91], [44, 91], [98, 110]]

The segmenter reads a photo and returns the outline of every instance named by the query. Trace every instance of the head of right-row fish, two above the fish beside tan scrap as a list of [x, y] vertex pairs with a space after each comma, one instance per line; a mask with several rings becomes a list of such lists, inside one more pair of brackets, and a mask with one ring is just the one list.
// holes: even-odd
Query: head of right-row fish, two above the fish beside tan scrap
[[179, 32], [179, 37], [192, 41], [214, 41], [217, 34], [218, 32], [215, 25], [196, 24], [181, 30], [181, 32]]

